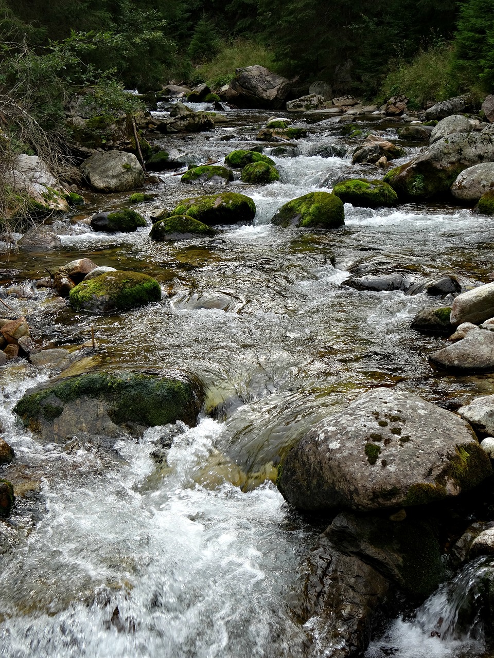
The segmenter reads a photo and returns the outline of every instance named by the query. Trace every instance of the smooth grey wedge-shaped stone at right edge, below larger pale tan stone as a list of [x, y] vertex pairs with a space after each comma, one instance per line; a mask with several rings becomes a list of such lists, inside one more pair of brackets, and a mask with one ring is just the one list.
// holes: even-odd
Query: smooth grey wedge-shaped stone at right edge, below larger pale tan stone
[[494, 370], [494, 332], [472, 330], [457, 343], [430, 354], [429, 361], [443, 370], [459, 372]]

